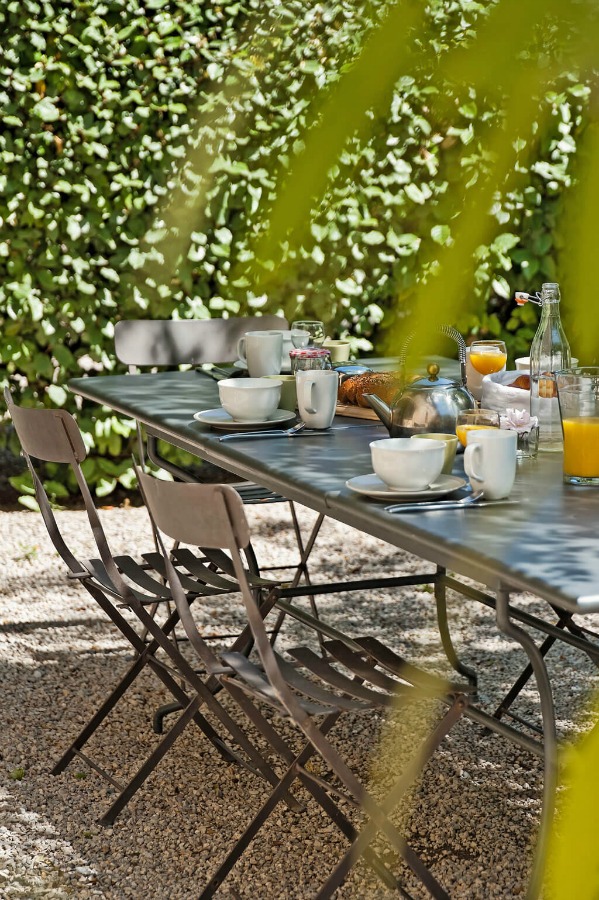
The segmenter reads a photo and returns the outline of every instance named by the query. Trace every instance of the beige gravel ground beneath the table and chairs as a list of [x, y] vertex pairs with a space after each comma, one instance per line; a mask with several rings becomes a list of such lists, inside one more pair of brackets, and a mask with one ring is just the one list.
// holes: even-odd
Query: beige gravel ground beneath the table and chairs
[[[144, 510], [102, 513], [111, 545], [135, 553], [150, 545]], [[307, 524], [312, 513], [305, 511]], [[282, 505], [249, 512], [258, 557], [269, 565], [293, 556]], [[59, 514], [71, 545], [93, 555], [82, 512]], [[113, 828], [96, 824], [113, 789], [82, 762], [53, 777], [52, 763], [130, 661], [128, 646], [94, 601], [67, 582], [41, 518], [0, 512], [0, 897], [195, 898], [215, 862], [264, 797], [251, 774], [224, 764], [187, 729]], [[314, 555], [318, 579], [369, 572], [422, 571], [413, 557], [327, 521]], [[428, 567], [430, 571], [430, 567]], [[534, 598], [518, 602], [543, 607]], [[219, 605], [220, 604], [220, 605]], [[414, 661], [447, 673], [428, 588], [371, 591], [321, 601], [330, 620], [354, 633], [374, 633]], [[239, 617], [228, 598], [198, 615], [207, 631]], [[481, 702], [492, 709], [523, 664], [522, 651], [498, 636], [492, 613], [453, 596], [452, 628], [466, 662], [480, 676]], [[293, 628], [284, 639], [293, 640]], [[584, 721], [596, 678], [581, 654], [550, 655], [562, 734]], [[117, 777], [132, 774], [155, 746], [151, 716], [165, 694], [142, 676], [89, 745]], [[518, 711], [536, 714], [531, 687]], [[382, 727], [372, 717], [346, 717], [337, 729], [351, 764], [380, 790], [417, 723], [428, 710]], [[373, 764], [374, 760], [374, 764]], [[497, 736], [461, 722], [445, 739], [401, 811], [414, 848], [452, 897], [517, 897], [526, 885], [542, 770], [538, 759]], [[344, 842], [313, 804], [304, 813], [279, 807], [237, 864], [219, 898], [307, 898]], [[421, 887], [408, 876], [415, 897]], [[397, 896], [357, 866], [338, 894], [345, 900]]]

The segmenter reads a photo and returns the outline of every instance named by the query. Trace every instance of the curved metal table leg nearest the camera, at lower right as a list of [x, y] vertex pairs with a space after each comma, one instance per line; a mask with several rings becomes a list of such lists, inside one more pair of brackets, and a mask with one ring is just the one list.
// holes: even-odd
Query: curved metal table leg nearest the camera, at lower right
[[509, 599], [509, 591], [504, 589], [497, 591], [497, 626], [502, 634], [520, 644], [528, 656], [537, 682], [537, 690], [539, 691], [541, 700], [541, 716], [543, 720], [543, 805], [541, 809], [537, 845], [527, 891], [528, 900], [535, 900], [535, 898], [539, 896], [542, 888], [543, 873], [545, 869], [545, 854], [555, 810], [555, 791], [557, 787], [557, 733], [553, 694], [543, 656], [533, 639], [522, 628], [511, 621]]

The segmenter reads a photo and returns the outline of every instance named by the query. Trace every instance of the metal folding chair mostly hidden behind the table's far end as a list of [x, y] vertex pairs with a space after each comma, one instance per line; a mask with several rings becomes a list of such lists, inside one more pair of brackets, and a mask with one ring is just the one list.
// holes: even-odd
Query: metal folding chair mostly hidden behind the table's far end
[[[237, 355], [237, 342], [246, 331], [253, 329], [287, 329], [287, 320], [280, 316], [251, 316], [229, 319], [131, 319], [115, 324], [114, 346], [117, 359], [136, 372], [140, 368], [158, 366], [201, 365], [231, 361]], [[139, 423], [137, 424], [140, 458], [144, 460], [144, 441]], [[160, 453], [158, 441], [152, 435], [146, 436], [145, 448], [148, 458], [159, 468], [170, 472], [178, 481], [194, 482], [197, 477], [186, 469], [175, 465]], [[307, 559], [322, 525], [324, 516], [318, 516], [309, 539], [304, 543], [297, 511], [292, 500], [252, 482], [234, 485], [244, 504], [288, 503], [295, 540], [299, 551], [299, 561], [276, 569], [294, 569], [294, 584], [303, 577], [309, 583]]]

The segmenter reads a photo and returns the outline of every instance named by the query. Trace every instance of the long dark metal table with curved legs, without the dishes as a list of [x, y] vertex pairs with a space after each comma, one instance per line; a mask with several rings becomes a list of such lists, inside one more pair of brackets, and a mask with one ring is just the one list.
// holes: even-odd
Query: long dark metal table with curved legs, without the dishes
[[[517, 506], [393, 515], [384, 511], [383, 504], [345, 487], [347, 479], [372, 469], [369, 442], [387, 434], [376, 422], [337, 417], [333, 433], [327, 437], [221, 442], [222, 433], [193, 419], [198, 410], [219, 405], [214, 380], [195, 370], [77, 378], [69, 387], [139, 420], [151, 435], [436, 564], [436, 575], [430, 580], [441, 612], [441, 636], [450, 661], [462, 674], [470, 673], [451, 644], [446, 589], [495, 609], [499, 629], [523, 647], [530, 661], [520, 688], [534, 673], [541, 699], [545, 785], [540, 851], [530, 888], [530, 895], [536, 895], [542, 847], [553, 812], [557, 763], [555, 715], [544, 654], [560, 639], [599, 662], [599, 641], [594, 642], [594, 635], [571, 617], [599, 611], [599, 536], [594, 527], [599, 493], [593, 488], [565, 486], [561, 455], [541, 454], [537, 460], [519, 463], [512, 494]], [[456, 474], [461, 466], [458, 457]], [[448, 570], [485, 585], [488, 593], [462, 584], [449, 576]], [[511, 605], [510, 593], [522, 590], [547, 601], [557, 621], [532, 617]], [[545, 634], [540, 648], [517, 623], [533, 625]], [[539, 752], [537, 741], [503, 720], [512, 700], [508, 695], [505, 707], [494, 717], [473, 705], [471, 717]]]

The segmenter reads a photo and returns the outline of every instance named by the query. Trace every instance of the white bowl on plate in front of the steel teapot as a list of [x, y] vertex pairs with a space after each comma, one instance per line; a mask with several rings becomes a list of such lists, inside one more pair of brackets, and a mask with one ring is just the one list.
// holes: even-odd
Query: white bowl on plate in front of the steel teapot
[[389, 487], [423, 491], [441, 474], [445, 443], [384, 438], [370, 444], [370, 453], [375, 473]]

